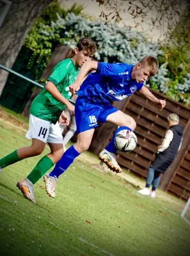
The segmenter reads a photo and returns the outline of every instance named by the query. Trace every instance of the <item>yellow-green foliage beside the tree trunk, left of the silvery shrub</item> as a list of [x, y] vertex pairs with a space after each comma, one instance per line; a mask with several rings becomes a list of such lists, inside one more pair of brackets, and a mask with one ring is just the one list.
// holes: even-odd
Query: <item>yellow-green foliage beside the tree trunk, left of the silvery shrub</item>
[[[54, 51], [56, 44], [58, 44], [58, 42], [64, 44], [65, 42], [64, 38], [60, 38], [59, 33], [52, 33], [52, 26], [54, 22], [58, 20], [58, 16], [65, 19], [68, 13], [75, 13], [75, 15], [80, 14], [87, 17], [83, 13], [83, 10], [83, 4], [74, 3], [70, 9], [65, 10], [60, 7], [59, 1], [54, 1], [47, 6], [44, 12], [42, 12], [40, 17], [36, 20], [24, 42], [24, 45], [33, 51], [33, 55], [28, 61], [28, 69], [33, 68], [34, 65], [38, 66], [36, 69], [36, 80], [40, 78], [44, 68], [51, 58], [51, 54]], [[43, 35], [40, 34], [42, 28], [47, 31], [46, 35], [45, 33]], [[72, 31], [69, 31], [69, 33], [72, 35]], [[68, 40], [69, 38], [68, 35]]]

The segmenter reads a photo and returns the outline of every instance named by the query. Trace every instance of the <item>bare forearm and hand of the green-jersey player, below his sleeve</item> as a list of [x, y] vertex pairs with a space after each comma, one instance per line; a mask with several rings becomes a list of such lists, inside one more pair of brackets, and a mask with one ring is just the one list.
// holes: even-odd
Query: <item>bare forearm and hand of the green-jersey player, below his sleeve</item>
[[63, 95], [61, 95], [61, 93], [59, 93], [55, 84], [53, 84], [51, 81], [47, 81], [47, 84], [45, 85], [45, 90], [49, 92], [52, 95], [52, 97], [54, 97], [54, 99], [65, 104], [70, 115], [74, 115], [74, 105], [72, 105], [67, 99], [65, 99], [65, 97], [63, 97]]

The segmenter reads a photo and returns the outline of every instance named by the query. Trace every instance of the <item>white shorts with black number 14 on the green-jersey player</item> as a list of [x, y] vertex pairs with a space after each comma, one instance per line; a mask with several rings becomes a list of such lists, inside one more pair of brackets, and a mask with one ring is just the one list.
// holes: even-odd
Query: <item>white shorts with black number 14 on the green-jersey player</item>
[[29, 130], [26, 133], [27, 139], [37, 139], [45, 143], [63, 144], [63, 137], [58, 122], [51, 124], [36, 116], [29, 115]]

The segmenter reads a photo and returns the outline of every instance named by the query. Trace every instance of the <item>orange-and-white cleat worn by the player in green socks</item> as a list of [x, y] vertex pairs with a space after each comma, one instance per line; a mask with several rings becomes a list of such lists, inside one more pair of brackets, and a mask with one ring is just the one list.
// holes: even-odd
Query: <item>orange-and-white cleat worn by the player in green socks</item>
[[36, 204], [35, 195], [33, 191], [33, 184], [31, 183], [30, 180], [28, 179], [20, 180], [17, 183], [17, 187], [20, 189], [24, 197], [28, 198], [28, 200]]

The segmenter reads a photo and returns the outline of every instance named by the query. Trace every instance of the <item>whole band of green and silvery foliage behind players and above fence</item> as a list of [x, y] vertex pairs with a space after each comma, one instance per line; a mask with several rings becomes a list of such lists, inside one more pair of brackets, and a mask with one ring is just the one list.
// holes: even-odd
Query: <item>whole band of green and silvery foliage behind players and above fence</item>
[[[135, 64], [145, 55], [157, 57], [161, 68], [155, 77], [149, 79], [147, 86], [190, 106], [190, 33], [187, 19], [180, 20], [170, 45], [157, 45], [148, 42], [145, 35], [118, 27], [113, 22], [84, 19], [83, 10], [84, 6], [79, 4], [63, 10], [59, 3], [53, 2], [38, 18], [24, 42], [34, 52], [28, 68], [38, 65], [36, 79], [42, 74], [56, 45], [67, 44], [74, 49], [81, 36], [90, 36], [97, 43], [95, 58], [99, 61]], [[184, 36], [180, 35], [182, 26], [186, 31]]]

